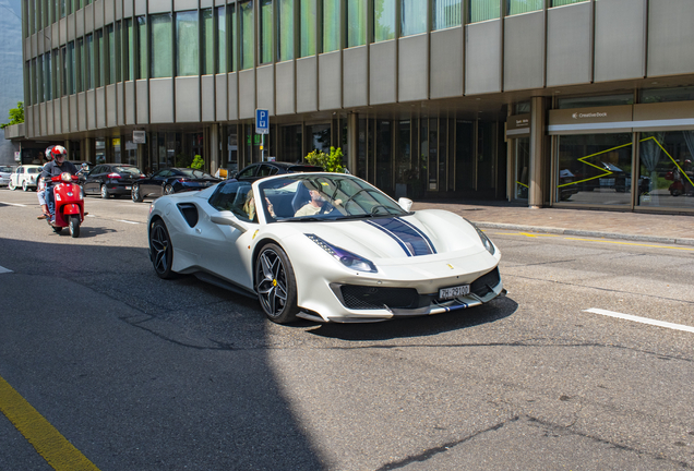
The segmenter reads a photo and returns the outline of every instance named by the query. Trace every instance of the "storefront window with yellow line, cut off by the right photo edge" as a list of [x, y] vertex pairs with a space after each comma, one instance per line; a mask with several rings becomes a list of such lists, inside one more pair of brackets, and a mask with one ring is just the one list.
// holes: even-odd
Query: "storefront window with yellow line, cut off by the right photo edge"
[[694, 209], [694, 131], [641, 134], [637, 205]]

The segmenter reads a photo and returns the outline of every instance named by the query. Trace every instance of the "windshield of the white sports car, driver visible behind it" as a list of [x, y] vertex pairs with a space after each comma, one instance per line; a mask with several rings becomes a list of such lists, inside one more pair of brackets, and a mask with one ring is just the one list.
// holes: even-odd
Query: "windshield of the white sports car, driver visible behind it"
[[379, 189], [344, 173], [288, 174], [262, 181], [259, 190], [265, 217], [271, 222], [345, 220], [407, 214]]

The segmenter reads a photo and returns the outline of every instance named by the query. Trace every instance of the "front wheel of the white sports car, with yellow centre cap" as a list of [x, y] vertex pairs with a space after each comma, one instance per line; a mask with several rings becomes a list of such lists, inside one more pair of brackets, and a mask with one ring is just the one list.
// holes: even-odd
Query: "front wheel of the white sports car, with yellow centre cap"
[[297, 281], [287, 254], [276, 244], [263, 247], [255, 261], [255, 291], [267, 318], [277, 324], [297, 319]]

